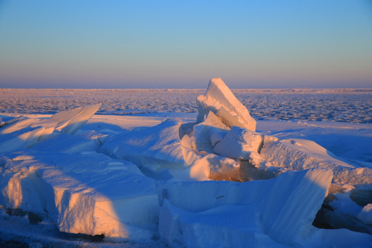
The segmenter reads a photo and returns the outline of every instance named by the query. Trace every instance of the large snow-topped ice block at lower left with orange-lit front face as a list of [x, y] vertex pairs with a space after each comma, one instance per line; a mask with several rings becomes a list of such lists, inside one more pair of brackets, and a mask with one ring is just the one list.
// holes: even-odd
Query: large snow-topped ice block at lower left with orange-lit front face
[[60, 231], [151, 238], [158, 220], [155, 181], [103, 154], [8, 154], [1, 205], [48, 215]]

